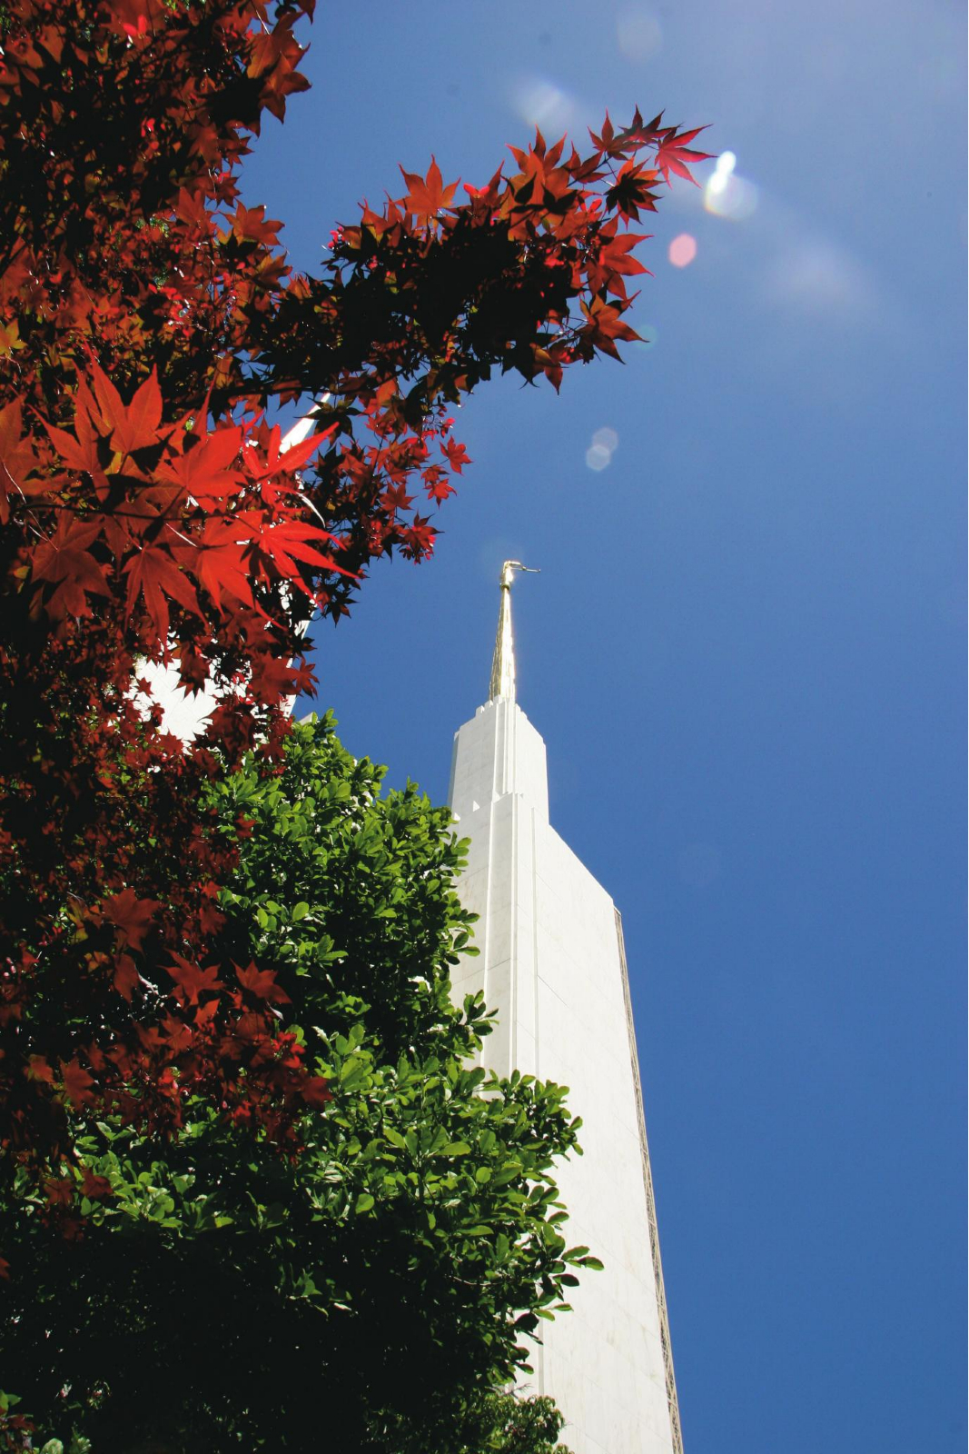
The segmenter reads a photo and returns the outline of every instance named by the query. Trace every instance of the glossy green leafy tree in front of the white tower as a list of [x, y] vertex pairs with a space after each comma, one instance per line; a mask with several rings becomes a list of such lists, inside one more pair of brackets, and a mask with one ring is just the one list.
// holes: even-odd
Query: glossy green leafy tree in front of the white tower
[[449, 997], [462, 849], [381, 775], [327, 718], [275, 779], [244, 765], [211, 788], [227, 832], [251, 822], [227, 954], [273, 967], [273, 1011], [330, 1088], [298, 1150], [209, 1098], [163, 1149], [78, 1112], [80, 1240], [26, 1173], [3, 1211], [4, 1380], [64, 1448], [552, 1450], [554, 1410], [497, 1389], [594, 1264], [554, 1179], [578, 1122], [562, 1088], [472, 1064], [487, 1012]]

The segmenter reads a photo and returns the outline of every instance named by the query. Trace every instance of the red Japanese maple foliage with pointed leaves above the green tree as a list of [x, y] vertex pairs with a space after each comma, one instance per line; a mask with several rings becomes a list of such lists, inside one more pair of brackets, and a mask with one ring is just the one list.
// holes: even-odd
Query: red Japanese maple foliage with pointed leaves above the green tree
[[[431, 161], [295, 273], [240, 164], [307, 86], [312, 9], [0, 13], [0, 1130], [68, 1233], [77, 1111], [166, 1136], [208, 1096], [298, 1152], [325, 1082], [273, 964], [222, 945], [250, 824], [216, 832], [199, 790], [253, 749], [276, 771], [312, 612], [431, 554], [469, 462], [453, 406], [636, 337], [628, 227], [703, 156], [636, 113], [584, 154], [539, 134], [479, 189]], [[283, 451], [264, 410], [301, 397]], [[144, 662], [214, 695], [190, 749], [139, 705]]]

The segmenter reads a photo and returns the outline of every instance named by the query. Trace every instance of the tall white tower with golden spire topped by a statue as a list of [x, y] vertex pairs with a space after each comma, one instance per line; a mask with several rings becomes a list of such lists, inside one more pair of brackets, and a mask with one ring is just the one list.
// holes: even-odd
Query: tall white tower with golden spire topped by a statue
[[511, 580], [490, 699], [455, 734], [450, 808], [471, 839], [459, 893], [479, 915], [477, 958], [455, 971], [458, 1002], [482, 989], [498, 1011], [484, 1060], [569, 1086], [584, 1154], [559, 1166], [569, 1245], [585, 1272], [574, 1312], [542, 1323], [530, 1393], [551, 1394], [574, 1454], [681, 1454], [673, 1355], [622, 922], [549, 824], [545, 743], [514, 699]]

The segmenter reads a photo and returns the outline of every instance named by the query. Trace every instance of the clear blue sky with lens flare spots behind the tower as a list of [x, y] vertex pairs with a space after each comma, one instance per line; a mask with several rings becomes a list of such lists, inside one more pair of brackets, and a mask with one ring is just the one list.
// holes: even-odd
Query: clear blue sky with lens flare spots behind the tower
[[654, 342], [485, 387], [437, 558], [318, 651], [347, 746], [440, 801], [500, 563], [542, 567], [520, 701], [623, 910], [687, 1454], [966, 1447], [963, 12], [324, 3], [247, 169], [312, 268], [398, 161], [481, 183], [536, 115], [737, 157], [747, 217], [654, 220]]

